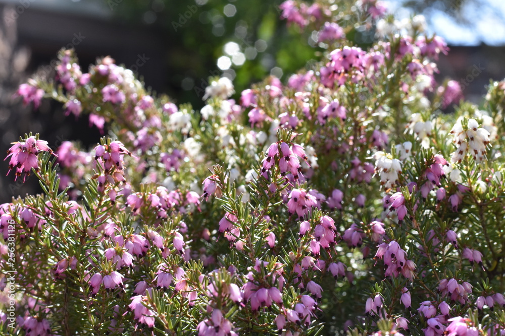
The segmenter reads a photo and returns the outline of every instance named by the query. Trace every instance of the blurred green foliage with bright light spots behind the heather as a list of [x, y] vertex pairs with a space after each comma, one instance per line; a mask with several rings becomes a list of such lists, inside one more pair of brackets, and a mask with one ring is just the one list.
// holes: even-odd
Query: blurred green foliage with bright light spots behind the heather
[[[286, 27], [280, 19], [281, 3], [123, 0], [115, 6], [114, 14], [118, 21], [148, 25], [161, 32], [168, 46], [166, 91], [179, 102], [191, 102], [199, 108], [203, 101], [193, 86], [205, 88], [208, 77], [221, 74], [217, 59], [225, 55], [223, 49], [228, 42], [237, 43], [242, 53], [248, 50], [243, 65], [231, 66], [237, 93], [265, 78], [275, 66], [282, 69], [284, 80], [313, 57], [309, 36], [290, 33], [297, 27]], [[235, 14], [227, 16], [225, 12]]]

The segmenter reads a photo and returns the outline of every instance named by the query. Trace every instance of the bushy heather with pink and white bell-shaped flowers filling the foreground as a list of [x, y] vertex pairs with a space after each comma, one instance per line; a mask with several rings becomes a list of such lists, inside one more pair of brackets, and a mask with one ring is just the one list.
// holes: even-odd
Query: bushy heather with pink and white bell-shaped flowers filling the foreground
[[43, 193], [0, 207], [3, 334], [505, 333], [505, 84], [464, 102], [443, 40], [380, 2], [281, 16], [327, 51], [239, 102], [212, 78], [194, 111], [72, 50], [20, 87], [108, 133], [9, 150]]

